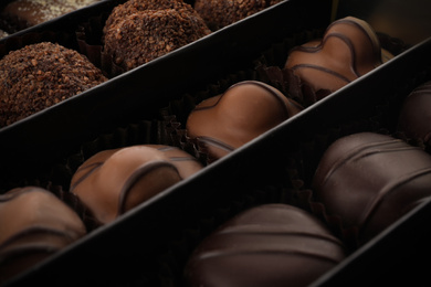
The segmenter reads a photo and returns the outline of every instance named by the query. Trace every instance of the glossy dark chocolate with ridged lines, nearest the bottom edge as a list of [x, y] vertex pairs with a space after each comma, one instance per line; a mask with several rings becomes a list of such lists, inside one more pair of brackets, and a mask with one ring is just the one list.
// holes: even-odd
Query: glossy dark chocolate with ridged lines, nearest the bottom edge
[[312, 214], [266, 204], [231, 219], [189, 258], [189, 286], [307, 286], [345, 257], [343, 244]]

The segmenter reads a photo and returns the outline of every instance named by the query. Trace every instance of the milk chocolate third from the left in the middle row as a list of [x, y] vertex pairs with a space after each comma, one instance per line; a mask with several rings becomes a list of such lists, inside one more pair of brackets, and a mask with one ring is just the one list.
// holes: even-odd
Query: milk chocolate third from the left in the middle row
[[211, 160], [217, 160], [302, 109], [276, 88], [244, 81], [197, 105], [186, 129], [190, 138], [204, 147]]

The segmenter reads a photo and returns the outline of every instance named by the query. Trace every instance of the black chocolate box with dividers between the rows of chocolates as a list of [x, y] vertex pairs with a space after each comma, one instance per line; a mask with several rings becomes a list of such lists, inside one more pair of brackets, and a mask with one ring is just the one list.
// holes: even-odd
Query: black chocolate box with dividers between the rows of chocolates
[[[346, 2], [340, 1], [337, 18], [357, 11], [348, 11]], [[22, 31], [0, 41], [0, 47], [15, 45], [10, 39], [29, 39], [54, 26], [54, 32], [65, 26], [74, 30], [112, 4], [106, 1]], [[41, 181], [66, 189], [70, 173], [59, 172], [57, 167], [61, 170], [65, 161], [73, 161], [85, 142], [124, 145], [116, 138], [127, 134], [130, 125], [151, 121], [156, 111], [185, 94], [256, 76], [255, 63], [262, 55], [277, 62], [267, 60], [277, 55], [273, 51], [302, 41], [304, 31], [318, 34], [334, 19], [332, 11], [332, 1], [284, 1], [0, 129], [0, 189]], [[431, 40], [413, 43], [385, 65], [114, 223], [95, 228], [6, 286], [182, 286], [190, 252], [233, 214], [266, 202], [301, 204], [294, 194], [309, 188], [316, 161], [328, 142], [356, 131], [393, 131], [402, 99], [431, 78], [430, 49]], [[313, 286], [423, 285], [427, 265], [421, 259], [429, 252], [430, 204], [423, 202]]]

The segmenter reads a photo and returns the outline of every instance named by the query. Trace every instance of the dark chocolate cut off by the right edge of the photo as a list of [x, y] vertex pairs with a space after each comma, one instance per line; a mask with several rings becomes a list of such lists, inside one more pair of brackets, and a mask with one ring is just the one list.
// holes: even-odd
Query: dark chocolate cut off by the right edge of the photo
[[398, 130], [409, 138], [431, 145], [431, 82], [420, 85], [404, 99]]

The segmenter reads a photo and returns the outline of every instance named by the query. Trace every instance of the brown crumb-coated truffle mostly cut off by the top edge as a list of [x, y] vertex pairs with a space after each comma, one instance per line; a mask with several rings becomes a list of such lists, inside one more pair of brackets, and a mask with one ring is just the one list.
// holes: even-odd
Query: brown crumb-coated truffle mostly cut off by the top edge
[[195, 10], [212, 30], [219, 30], [282, 0], [196, 0]]

